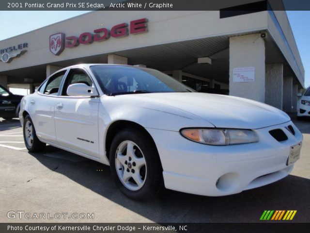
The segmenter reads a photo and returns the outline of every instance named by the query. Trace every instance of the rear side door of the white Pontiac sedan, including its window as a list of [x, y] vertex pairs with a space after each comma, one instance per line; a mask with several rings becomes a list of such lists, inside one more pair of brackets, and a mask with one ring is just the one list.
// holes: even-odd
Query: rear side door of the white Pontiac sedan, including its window
[[37, 93], [31, 95], [29, 111], [40, 139], [57, 144], [55, 132], [55, 102], [66, 70], [51, 76]]

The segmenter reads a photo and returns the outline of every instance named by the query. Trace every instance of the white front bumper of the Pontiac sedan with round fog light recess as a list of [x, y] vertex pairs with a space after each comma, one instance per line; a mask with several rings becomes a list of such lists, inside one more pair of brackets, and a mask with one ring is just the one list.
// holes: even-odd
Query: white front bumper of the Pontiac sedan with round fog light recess
[[[285, 127], [292, 125], [295, 135]], [[269, 133], [281, 129], [288, 137], [278, 142]], [[205, 196], [225, 196], [276, 182], [294, 164], [286, 162], [290, 147], [302, 134], [290, 121], [257, 129], [257, 143], [209, 146], [187, 140], [179, 132], [147, 129], [154, 138], [163, 166], [165, 187]]]

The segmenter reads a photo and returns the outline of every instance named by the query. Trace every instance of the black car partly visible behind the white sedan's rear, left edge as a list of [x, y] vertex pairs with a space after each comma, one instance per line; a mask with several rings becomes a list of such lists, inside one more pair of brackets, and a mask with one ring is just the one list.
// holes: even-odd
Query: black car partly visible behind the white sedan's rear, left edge
[[0, 85], [0, 117], [10, 120], [18, 117], [20, 100], [23, 96], [14, 95]]

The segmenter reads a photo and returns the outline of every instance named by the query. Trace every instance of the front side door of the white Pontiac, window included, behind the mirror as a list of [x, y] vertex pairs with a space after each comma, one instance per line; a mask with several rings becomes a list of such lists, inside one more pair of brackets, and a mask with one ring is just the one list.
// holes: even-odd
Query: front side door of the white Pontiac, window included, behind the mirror
[[70, 69], [55, 103], [55, 128], [59, 145], [99, 157], [99, 97], [68, 96], [67, 87], [74, 83], [94, 86], [89, 74], [81, 68]]

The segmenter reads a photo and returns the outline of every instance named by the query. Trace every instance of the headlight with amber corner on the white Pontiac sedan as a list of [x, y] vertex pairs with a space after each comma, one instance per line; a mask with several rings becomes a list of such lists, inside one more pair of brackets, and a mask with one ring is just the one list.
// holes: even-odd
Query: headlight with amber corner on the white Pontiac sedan
[[208, 145], [233, 145], [258, 142], [252, 130], [237, 129], [183, 129], [181, 134], [189, 140]]

